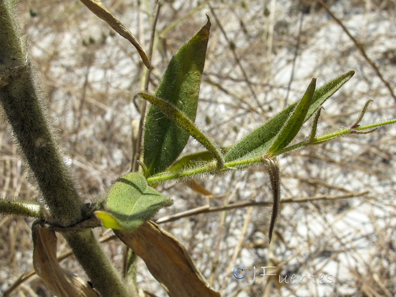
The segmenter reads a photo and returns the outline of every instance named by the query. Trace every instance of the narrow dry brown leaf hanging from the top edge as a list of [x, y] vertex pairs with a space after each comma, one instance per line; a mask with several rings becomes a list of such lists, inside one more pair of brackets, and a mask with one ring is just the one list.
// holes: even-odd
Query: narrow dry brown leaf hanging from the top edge
[[146, 52], [142, 46], [136, 40], [135, 36], [132, 35], [131, 31], [123, 23], [121, 23], [114, 15], [112, 15], [106, 7], [103, 6], [100, 0], [80, 0], [85, 6], [88, 7], [96, 16], [105, 21], [115, 32], [128, 40], [139, 52], [140, 57], [145, 63], [147, 68], [150, 68], [150, 61], [148, 60]]

